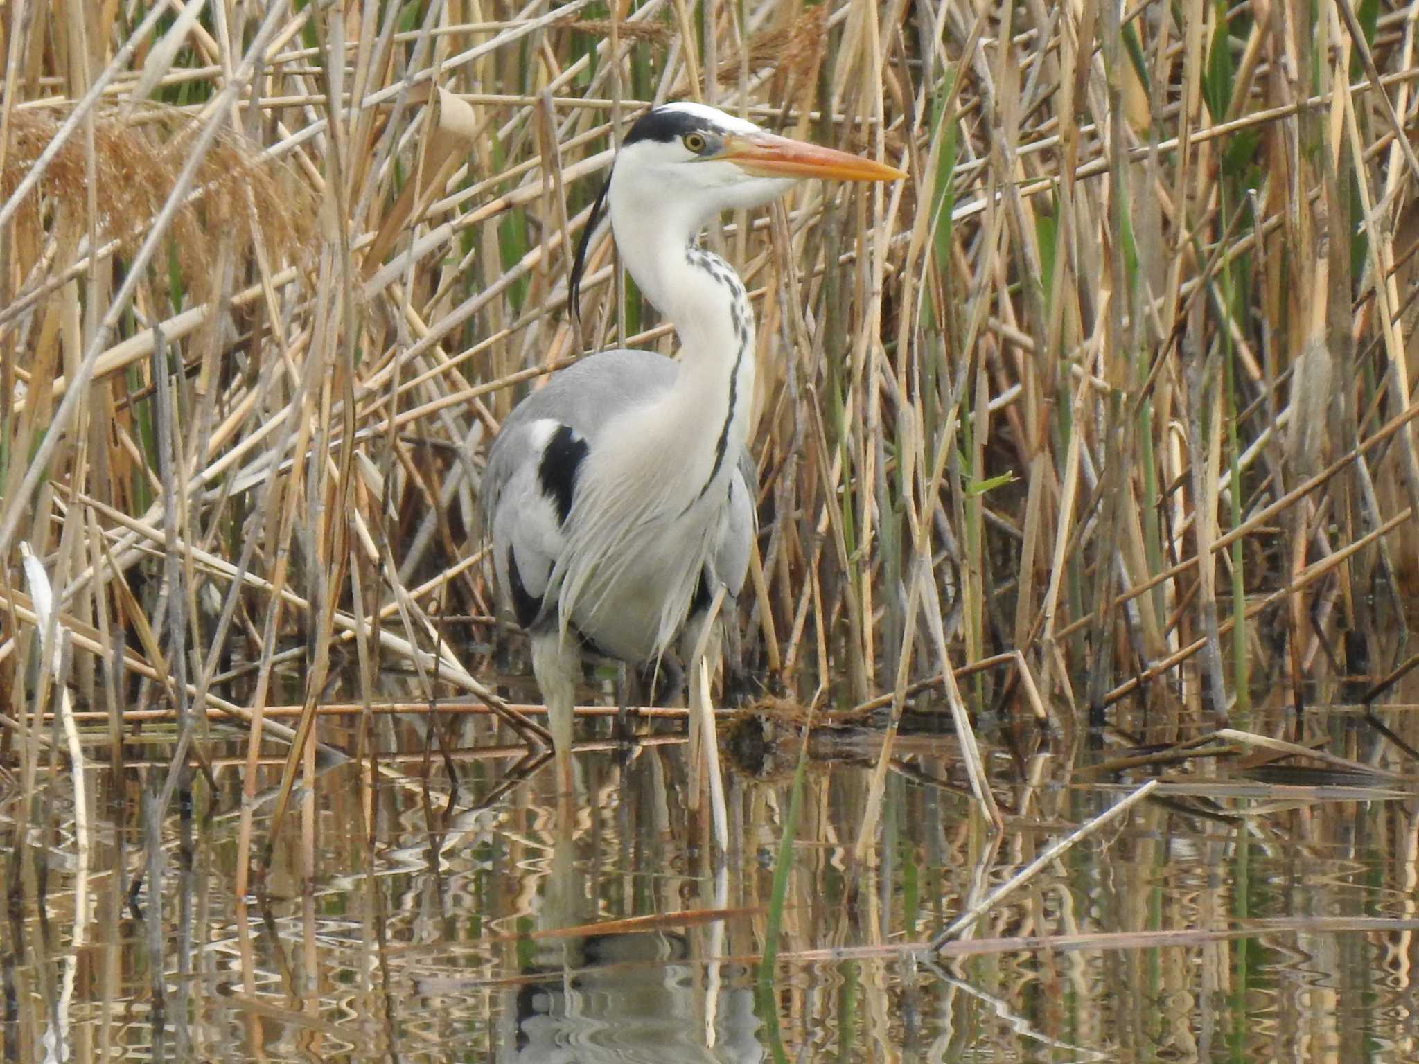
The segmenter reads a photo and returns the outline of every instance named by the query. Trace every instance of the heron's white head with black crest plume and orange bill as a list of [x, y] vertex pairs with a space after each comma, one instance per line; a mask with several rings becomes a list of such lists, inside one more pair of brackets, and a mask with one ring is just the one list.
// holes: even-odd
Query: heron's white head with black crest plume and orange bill
[[651, 108], [622, 140], [586, 221], [569, 292], [573, 314], [583, 255], [607, 199], [613, 217], [623, 210], [653, 213], [657, 227], [691, 240], [718, 213], [769, 203], [803, 177], [890, 182], [905, 174], [874, 159], [769, 133], [704, 104]]

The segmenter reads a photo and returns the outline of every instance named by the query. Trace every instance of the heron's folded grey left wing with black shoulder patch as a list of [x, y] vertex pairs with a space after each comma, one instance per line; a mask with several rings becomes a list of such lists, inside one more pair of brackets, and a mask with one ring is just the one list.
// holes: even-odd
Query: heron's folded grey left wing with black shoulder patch
[[576, 477], [602, 427], [668, 390], [677, 373], [654, 352], [602, 352], [553, 375], [502, 423], [482, 475], [484, 528], [492, 535], [499, 593], [524, 627], [542, 613]]

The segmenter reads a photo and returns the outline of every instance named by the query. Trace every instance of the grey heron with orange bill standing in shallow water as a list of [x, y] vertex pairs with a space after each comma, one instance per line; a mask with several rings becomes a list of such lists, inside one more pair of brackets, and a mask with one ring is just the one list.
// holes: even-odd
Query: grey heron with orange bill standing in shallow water
[[718, 589], [732, 604], [748, 570], [753, 312], [729, 264], [697, 243], [700, 230], [802, 177], [902, 176], [690, 102], [646, 112], [622, 142], [569, 304], [575, 314], [604, 207], [622, 261], [675, 326], [680, 359], [607, 350], [553, 375], [508, 414], [482, 478], [499, 594], [531, 637], [562, 793], [573, 786], [583, 647], [627, 663], [658, 660], [677, 638], [692, 647]]

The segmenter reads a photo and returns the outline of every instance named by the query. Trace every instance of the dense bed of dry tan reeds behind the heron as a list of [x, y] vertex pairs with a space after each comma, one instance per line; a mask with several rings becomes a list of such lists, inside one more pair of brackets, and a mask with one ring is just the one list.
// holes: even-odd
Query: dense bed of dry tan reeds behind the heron
[[617, 136], [675, 98], [910, 173], [708, 235], [761, 323], [738, 610], [766, 691], [841, 714], [944, 685], [1066, 726], [1139, 698], [1186, 731], [1259, 684], [1301, 705], [1317, 670], [1385, 672], [1354, 636], [1403, 623], [1419, 563], [1416, 26], [1371, 0], [7, 4], [6, 742], [38, 758], [68, 685], [115, 762], [126, 708], [175, 714], [175, 770], [217, 709], [253, 766], [294, 742], [289, 785], [315, 706], [389, 701], [392, 671], [535, 736], [491, 680], [517, 637], [480, 472], [546, 372], [674, 350], [604, 231], [580, 322], [566, 291]]

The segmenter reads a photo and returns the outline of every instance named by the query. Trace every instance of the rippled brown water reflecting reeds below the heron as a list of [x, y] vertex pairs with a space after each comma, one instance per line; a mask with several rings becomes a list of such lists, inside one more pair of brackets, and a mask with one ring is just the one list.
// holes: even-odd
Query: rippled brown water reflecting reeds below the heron
[[[1413, 741], [1408, 709], [1385, 721]], [[1128, 738], [1149, 738], [1134, 724]], [[322, 728], [349, 742], [356, 726]], [[0, 807], [6, 1055], [1419, 1058], [1410, 783], [1279, 779], [1236, 759], [1172, 766], [1156, 797], [931, 956], [910, 946], [1148, 775], [1091, 775], [1127, 752], [1122, 732], [988, 729], [1006, 811], [996, 837], [965, 794], [955, 739], [904, 735], [880, 826], [854, 860], [878, 738], [823, 733], [779, 959], [761, 982], [796, 742], [756, 749], [752, 772], [727, 766], [721, 855], [708, 810], [690, 807], [675, 728], [580, 753], [582, 793], [563, 817], [549, 766], [478, 807], [518, 769], [487, 722], [448, 722], [426, 756], [426, 732], [389, 718], [373, 741], [404, 756], [322, 773], [245, 898], [233, 891], [234, 733], [219, 729], [211, 748], [216, 789], [196, 782], [190, 811], [175, 802], [153, 821], [158, 846], [145, 847], [142, 809], [169, 750], [162, 733], [131, 745], [116, 776], [92, 767], [84, 867], [72, 782], [41, 765], [35, 797], [11, 790]], [[1335, 753], [1409, 770], [1352, 714], [1313, 714], [1307, 729]], [[280, 779], [275, 759], [258, 772], [258, 790]], [[270, 803], [255, 809], [257, 850], [270, 817]]]

